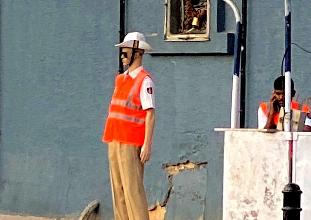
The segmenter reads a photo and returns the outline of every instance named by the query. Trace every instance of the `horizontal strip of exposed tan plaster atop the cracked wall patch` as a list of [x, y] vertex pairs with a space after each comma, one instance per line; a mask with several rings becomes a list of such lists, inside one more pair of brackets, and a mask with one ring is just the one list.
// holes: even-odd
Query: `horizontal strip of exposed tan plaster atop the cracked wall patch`
[[184, 170], [190, 170], [190, 169], [199, 170], [201, 167], [206, 168], [207, 162], [195, 162], [194, 163], [194, 162], [190, 162], [189, 160], [187, 160], [186, 162], [183, 162], [183, 163], [163, 165], [163, 169], [165, 169], [169, 175], [176, 175], [180, 171], [184, 171]]

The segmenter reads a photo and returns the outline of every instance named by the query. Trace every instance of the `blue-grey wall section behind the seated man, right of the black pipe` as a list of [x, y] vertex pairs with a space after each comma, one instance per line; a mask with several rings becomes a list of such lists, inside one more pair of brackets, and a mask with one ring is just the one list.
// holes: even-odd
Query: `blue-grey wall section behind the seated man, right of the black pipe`
[[[284, 2], [254, 0], [248, 4], [246, 124], [255, 127], [258, 104], [269, 100], [273, 81], [281, 75], [285, 52]], [[292, 42], [309, 51], [310, 10], [310, 1], [292, 1]], [[298, 102], [311, 97], [310, 58], [311, 54], [292, 46], [292, 78], [299, 94], [294, 99], [298, 98]], [[308, 104], [311, 107], [311, 99]]]

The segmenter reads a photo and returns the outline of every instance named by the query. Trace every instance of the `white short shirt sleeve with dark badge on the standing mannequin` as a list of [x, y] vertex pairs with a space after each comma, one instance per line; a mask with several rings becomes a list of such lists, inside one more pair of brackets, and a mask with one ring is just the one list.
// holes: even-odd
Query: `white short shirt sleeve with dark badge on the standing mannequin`
[[139, 97], [142, 110], [155, 108], [155, 85], [149, 76], [146, 76], [142, 82]]

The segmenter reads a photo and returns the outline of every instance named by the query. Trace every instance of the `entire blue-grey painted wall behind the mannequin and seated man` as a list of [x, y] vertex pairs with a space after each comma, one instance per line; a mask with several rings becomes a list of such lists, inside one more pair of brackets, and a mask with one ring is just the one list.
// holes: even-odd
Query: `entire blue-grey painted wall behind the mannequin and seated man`
[[[211, 0], [211, 8], [215, 4]], [[265, 0], [248, 4], [246, 125], [256, 127], [258, 104], [270, 97], [280, 74], [284, 7], [283, 2]], [[293, 42], [306, 48], [311, 48], [310, 10], [307, 0], [293, 2]], [[129, 1], [126, 11], [127, 32], [140, 31], [151, 42], [161, 41], [164, 0]], [[216, 12], [211, 15], [214, 30]], [[223, 34], [234, 27], [233, 13], [226, 7]], [[101, 137], [119, 65], [113, 46], [118, 31], [115, 0], [1, 0], [1, 213], [76, 216], [97, 199], [102, 218], [113, 218]], [[215, 39], [217, 33], [211, 33]], [[153, 207], [165, 201], [173, 184], [166, 219], [222, 218], [223, 135], [214, 128], [230, 124], [234, 58], [215, 55], [222, 45], [213, 37], [191, 49], [206, 46], [204, 52], [213, 55], [164, 52], [144, 58], [155, 79], [157, 115], [145, 187]], [[182, 44], [168, 48], [178, 51]], [[298, 101], [311, 96], [306, 84], [309, 60], [293, 47]], [[163, 164], [187, 160], [207, 162], [207, 168], [176, 174], [170, 182]], [[184, 211], [189, 216], [182, 212], [187, 204], [195, 210]]]

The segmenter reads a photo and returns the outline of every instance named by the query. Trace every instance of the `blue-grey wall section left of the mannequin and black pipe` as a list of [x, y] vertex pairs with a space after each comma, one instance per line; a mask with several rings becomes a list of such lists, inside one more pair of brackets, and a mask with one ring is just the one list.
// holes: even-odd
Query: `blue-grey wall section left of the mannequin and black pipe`
[[99, 199], [112, 217], [101, 135], [118, 4], [3, 0], [1, 11], [1, 212], [64, 216]]

